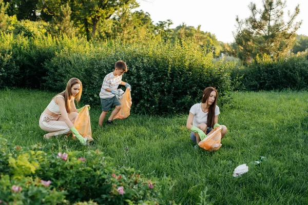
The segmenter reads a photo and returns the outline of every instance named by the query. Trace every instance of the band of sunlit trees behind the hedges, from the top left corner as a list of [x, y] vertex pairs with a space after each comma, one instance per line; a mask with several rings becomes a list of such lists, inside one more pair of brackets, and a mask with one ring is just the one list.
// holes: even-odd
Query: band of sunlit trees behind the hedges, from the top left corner
[[136, 10], [136, 0], [0, 0], [0, 5], [0, 30], [4, 32], [27, 36], [64, 33], [88, 40], [123, 42], [181, 42], [193, 38], [196, 45], [214, 56], [224, 49], [214, 34], [201, 31], [201, 25], [195, 28], [183, 23], [171, 29], [170, 19], [154, 24], [149, 13]]

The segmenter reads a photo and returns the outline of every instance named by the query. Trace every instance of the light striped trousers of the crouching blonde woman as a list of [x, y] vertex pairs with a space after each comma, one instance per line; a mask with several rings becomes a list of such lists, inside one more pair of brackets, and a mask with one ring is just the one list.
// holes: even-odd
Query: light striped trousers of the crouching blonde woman
[[[68, 118], [73, 122], [78, 113], [68, 114]], [[69, 127], [66, 125], [65, 121], [62, 121], [62, 116], [57, 117], [42, 113], [40, 117], [40, 128], [44, 131], [52, 133], [53, 136], [64, 135], [70, 133]]]

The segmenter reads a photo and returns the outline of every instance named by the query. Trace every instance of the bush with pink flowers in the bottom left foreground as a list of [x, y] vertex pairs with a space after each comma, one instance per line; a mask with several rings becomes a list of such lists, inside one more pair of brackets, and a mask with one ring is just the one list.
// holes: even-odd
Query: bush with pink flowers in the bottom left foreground
[[114, 168], [99, 151], [45, 152], [0, 137], [0, 199], [11, 203], [156, 204], [168, 200], [170, 179], [147, 180], [131, 168]]

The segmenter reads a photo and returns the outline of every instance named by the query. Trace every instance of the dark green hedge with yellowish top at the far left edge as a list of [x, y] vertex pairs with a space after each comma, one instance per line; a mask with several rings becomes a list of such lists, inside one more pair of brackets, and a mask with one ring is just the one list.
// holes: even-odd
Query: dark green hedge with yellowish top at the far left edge
[[[0, 84], [0, 88], [42, 88], [41, 84], [48, 72], [43, 67], [44, 61], [52, 58], [56, 49], [57, 40], [51, 36], [42, 39], [0, 33], [0, 69], [3, 72], [0, 80], [6, 82]], [[11, 83], [5, 73], [14, 76]]]

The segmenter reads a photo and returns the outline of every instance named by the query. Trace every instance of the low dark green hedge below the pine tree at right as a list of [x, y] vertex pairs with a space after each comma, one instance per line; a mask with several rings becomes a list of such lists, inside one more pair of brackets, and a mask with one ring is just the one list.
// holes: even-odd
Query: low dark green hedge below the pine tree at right
[[[236, 79], [239, 76], [242, 77]], [[292, 56], [273, 61], [265, 56], [248, 67], [235, 69], [232, 79], [252, 91], [308, 89], [308, 60]]]

